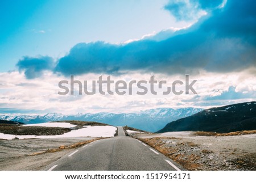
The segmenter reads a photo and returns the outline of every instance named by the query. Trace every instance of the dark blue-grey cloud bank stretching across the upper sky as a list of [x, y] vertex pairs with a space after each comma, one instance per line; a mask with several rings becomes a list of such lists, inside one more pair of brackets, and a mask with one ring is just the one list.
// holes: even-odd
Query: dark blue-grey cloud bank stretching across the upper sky
[[242, 71], [256, 66], [255, 6], [253, 0], [227, 1], [225, 6], [223, 1], [170, 1], [165, 9], [177, 20], [191, 18], [192, 11], [208, 14], [165, 40], [142, 39], [119, 45], [101, 41], [80, 43], [57, 60], [55, 67], [49, 57], [24, 57], [17, 66], [29, 79], [40, 77], [44, 70], [67, 76], [136, 70], [169, 75], [199, 70]]

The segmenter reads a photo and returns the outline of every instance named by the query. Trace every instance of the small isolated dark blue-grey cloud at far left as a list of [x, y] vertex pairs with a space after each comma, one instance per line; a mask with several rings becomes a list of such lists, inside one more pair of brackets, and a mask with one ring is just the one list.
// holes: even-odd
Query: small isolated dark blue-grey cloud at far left
[[16, 66], [18, 66], [19, 71], [24, 71], [27, 79], [33, 79], [40, 77], [44, 70], [52, 70], [54, 62], [53, 59], [48, 56], [24, 56], [19, 60]]

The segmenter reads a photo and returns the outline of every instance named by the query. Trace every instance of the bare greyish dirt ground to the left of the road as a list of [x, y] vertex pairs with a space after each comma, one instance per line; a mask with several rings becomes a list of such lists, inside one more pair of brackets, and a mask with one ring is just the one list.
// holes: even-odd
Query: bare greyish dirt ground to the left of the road
[[[96, 138], [47, 138], [0, 140], [0, 170], [44, 170], [48, 164], [71, 153], [75, 148], [46, 153], [60, 146], [86, 142]], [[35, 153], [43, 153], [34, 155]]]

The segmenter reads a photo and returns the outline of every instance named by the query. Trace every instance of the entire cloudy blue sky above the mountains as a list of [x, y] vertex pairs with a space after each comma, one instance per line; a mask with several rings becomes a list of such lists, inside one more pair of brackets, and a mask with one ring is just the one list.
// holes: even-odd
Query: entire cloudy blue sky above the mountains
[[[0, 112], [134, 112], [255, 100], [255, 6], [253, 0], [1, 1]], [[172, 82], [189, 74], [198, 95], [57, 95], [58, 82], [71, 74], [88, 82], [99, 75]]]

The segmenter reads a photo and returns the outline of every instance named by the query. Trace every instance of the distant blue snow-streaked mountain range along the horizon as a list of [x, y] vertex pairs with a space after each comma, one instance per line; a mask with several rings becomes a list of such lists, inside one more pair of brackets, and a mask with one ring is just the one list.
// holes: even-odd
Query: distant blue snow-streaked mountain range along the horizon
[[19, 121], [24, 124], [36, 124], [49, 121], [80, 120], [97, 121], [110, 125], [128, 125], [134, 128], [155, 132], [163, 128], [168, 122], [179, 118], [191, 116], [202, 111], [201, 108], [156, 108], [141, 111], [139, 113], [78, 113], [77, 115], [62, 115], [58, 113], [48, 113], [39, 115], [0, 115], [0, 120]]

